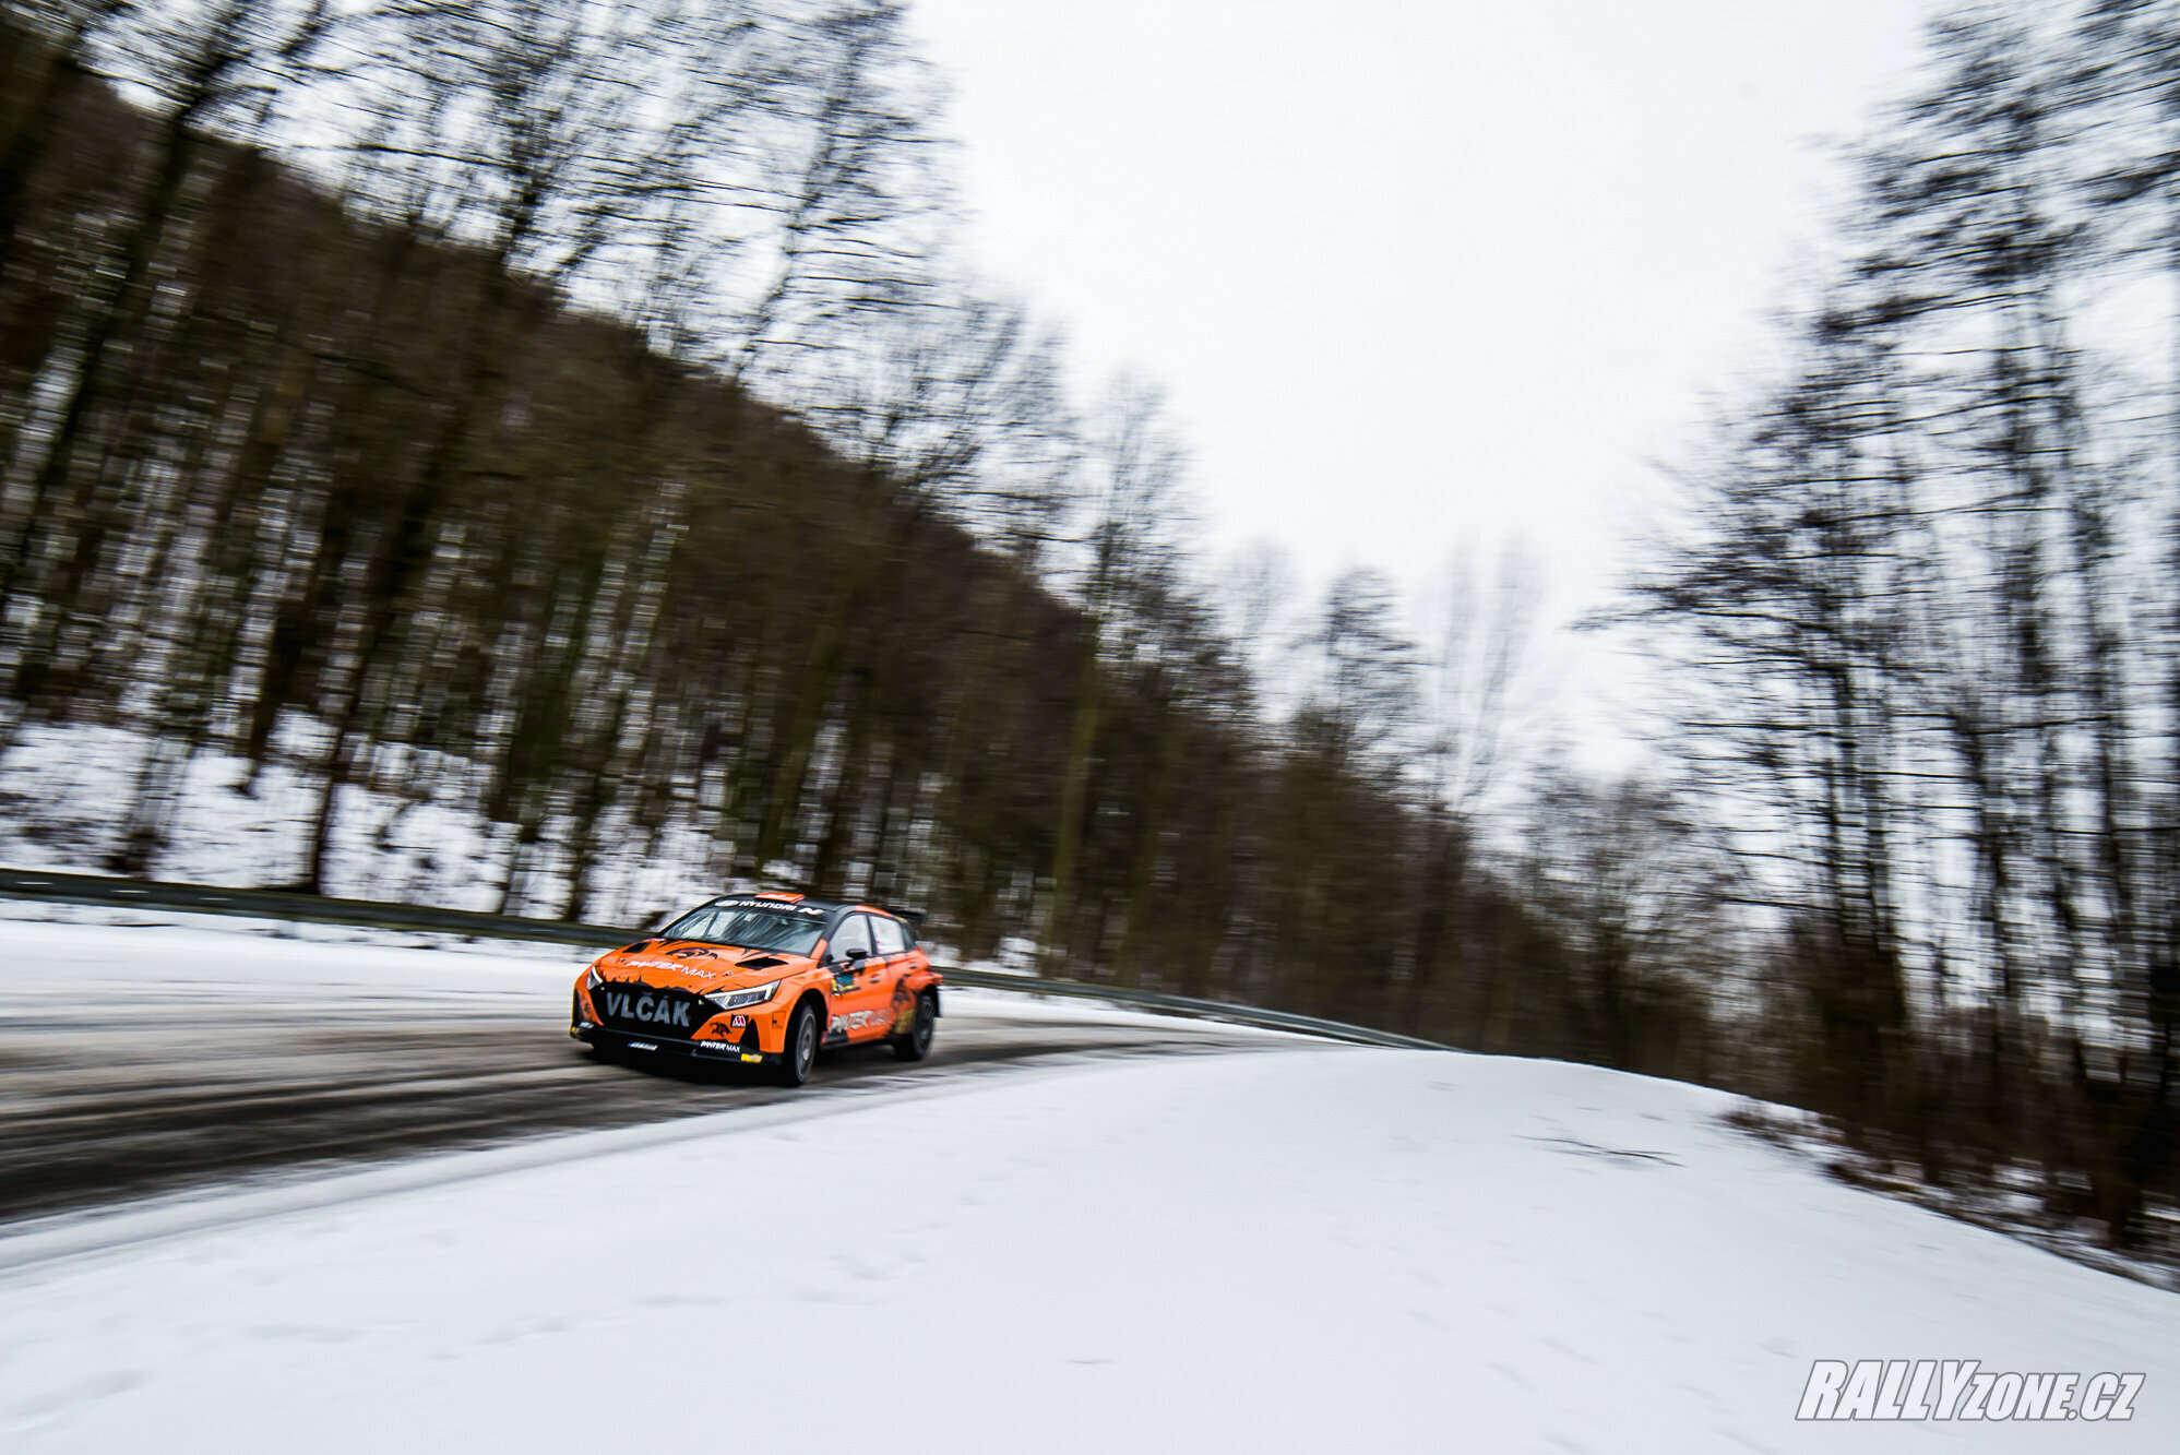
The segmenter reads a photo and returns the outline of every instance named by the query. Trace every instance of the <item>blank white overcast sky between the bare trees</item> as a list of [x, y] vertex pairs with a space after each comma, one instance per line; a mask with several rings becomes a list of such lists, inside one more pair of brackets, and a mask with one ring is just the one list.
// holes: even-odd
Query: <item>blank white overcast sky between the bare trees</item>
[[1410, 584], [1519, 538], [1596, 603], [1761, 340], [1923, 0], [913, 0], [972, 250], [1162, 379], [1206, 555]]

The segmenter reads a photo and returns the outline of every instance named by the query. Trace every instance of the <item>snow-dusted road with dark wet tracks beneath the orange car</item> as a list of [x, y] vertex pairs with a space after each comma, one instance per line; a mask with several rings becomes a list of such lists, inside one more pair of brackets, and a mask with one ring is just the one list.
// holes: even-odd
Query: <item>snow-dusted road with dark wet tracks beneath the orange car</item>
[[846, 1050], [785, 1093], [739, 1069], [584, 1054], [565, 1037], [582, 952], [270, 930], [0, 919], [0, 1220], [1055, 1059], [1295, 1041], [1081, 1002], [948, 993], [927, 1063]]

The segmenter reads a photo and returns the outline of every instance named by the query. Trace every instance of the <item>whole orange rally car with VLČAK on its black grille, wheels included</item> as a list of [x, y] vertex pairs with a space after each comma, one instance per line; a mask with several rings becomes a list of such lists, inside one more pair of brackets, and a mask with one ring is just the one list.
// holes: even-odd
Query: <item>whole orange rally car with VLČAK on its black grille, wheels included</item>
[[940, 974], [909, 924], [870, 904], [724, 895], [576, 980], [569, 1035], [600, 1050], [682, 1054], [809, 1080], [820, 1046], [931, 1052]]

